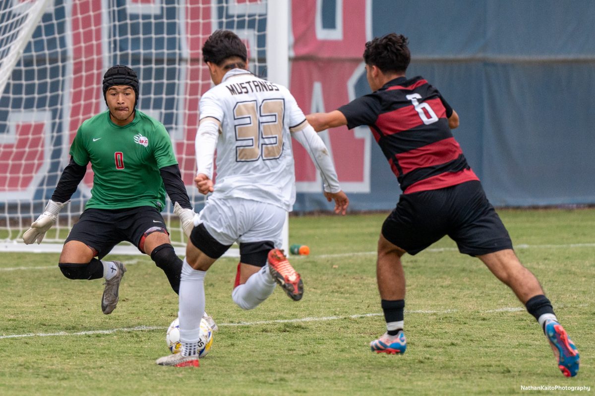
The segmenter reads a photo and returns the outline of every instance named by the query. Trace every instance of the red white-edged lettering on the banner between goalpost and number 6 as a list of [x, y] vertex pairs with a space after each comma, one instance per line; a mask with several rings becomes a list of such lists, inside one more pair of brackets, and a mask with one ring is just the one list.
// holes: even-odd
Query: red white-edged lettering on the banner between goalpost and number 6
[[[361, 59], [369, 39], [369, 1], [336, 0], [330, 28], [322, 22], [321, 4], [317, 0], [292, 4], [290, 90], [306, 114], [330, 112], [355, 99], [356, 81], [365, 74]], [[343, 190], [369, 192], [369, 130], [349, 131], [343, 126], [321, 132], [321, 137], [333, 156]], [[297, 192], [321, 191], [320, 175], [308, 154], [297, 143], [293, 147]]]

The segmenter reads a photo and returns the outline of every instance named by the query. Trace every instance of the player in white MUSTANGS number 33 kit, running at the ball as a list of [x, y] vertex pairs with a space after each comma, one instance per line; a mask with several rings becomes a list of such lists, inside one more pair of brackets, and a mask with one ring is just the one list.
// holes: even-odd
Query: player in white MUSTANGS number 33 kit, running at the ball
[[215, 87], [200, 101], [195, 182], [202, 194], [212, 194], [195, 218], [182, 267], [182, 351], [156, 361], [163, 366], [199, 366], [205, 273], [234, 242], [240, 245], [240, 263], [231, 296], [240, 308], [256, 308], [276, 284], [293, 300], [302, 298], [302, 279], [279, 249], [286, 213], [295, 201], [292, 137], [320, 171], [324, 195], [334, 200], [335, 213], [345, 214], [349, 205], [321, 138], [287, 88], [248, 71], [242, 40], [231, 31], [217, 30], [202, 54]]

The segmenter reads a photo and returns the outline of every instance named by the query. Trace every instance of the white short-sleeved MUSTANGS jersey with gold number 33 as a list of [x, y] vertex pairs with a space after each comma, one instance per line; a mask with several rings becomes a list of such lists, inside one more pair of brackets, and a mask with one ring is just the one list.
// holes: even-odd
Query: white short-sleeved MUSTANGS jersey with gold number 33
[[295, 201], [290, 129], [307, 122], [289, 90], [233, 69], [201, 97], [200, 110], [201, 123], [220, 125], [212, 198], [252, 199], [290, 211]]

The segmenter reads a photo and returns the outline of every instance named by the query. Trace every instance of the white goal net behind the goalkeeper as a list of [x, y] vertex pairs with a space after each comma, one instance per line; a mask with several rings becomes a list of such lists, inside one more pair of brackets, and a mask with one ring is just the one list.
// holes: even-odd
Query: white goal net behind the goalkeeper
[[[42, 244], [27, 246], [21, 237], [51, 197], [79, 125], [107, 109], [101, 81], [115, 64], [139, 75], [137, 107], [164, 123], [190, 200], [200, 210], [194, 139], [199, 99], [211, 87], [202, 44], [218, 28], [235, 31], [248, 47], [250, 70], [273, 80], [267, 76], [270, 8], [265, 0], [1, 1], [0, 250], [60, 252], [89, 198], [90, 166]], [[287, 20], [280, 27], [284, 33]], [[186, 237], [171, 202], [163, 214], [183, 252]], [[114, 252], [138, 251], [127, 245]]]

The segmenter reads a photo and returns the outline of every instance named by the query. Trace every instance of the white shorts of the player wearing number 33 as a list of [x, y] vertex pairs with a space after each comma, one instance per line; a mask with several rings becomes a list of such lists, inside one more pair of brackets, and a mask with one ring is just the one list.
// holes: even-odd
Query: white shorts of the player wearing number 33
[[270, 240], [281, 248], [286, 214], [283, 208], [251, 199], [209, 198], [195, 225], [202, 223], [221, 245]]

